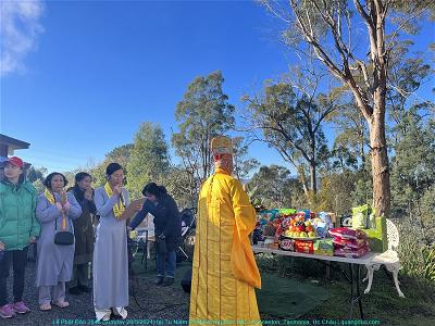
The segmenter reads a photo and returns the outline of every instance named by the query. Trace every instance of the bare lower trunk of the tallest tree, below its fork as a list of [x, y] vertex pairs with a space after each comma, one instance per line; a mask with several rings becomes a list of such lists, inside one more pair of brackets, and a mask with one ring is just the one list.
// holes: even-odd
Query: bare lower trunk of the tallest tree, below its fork
[[388, 217], [390, 188], [387, 142], [385, 136], [385, 98], [374, 93], [374, 112], [369, 123], [372, 156], [373, 206], [377, 216]]

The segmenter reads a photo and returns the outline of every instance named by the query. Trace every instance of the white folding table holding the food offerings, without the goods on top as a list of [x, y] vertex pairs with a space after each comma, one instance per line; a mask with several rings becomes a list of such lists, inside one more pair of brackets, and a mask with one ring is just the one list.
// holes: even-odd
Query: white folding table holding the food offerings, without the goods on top
[[300, 256], [312, 260], [318, 260], [320, 262], [325, 262], [326, 265], [330, 265], [331, 262], [345, 263], [349, 265], [349, 275], [346, 274], [341, 268], [339, 272], [346, 277], [346, 279], [350, 284], [350, 298], [349, 298], [349, 319], [352, 318], [353, 304], [358, 302], [361, 319], [364, 318], [363, 310], [362, 310], [362, 300], [360, 292], [360, 280], [361, 280], [361, 265], [369, 265], [373, 259], [377, 255], [375, 252], [368, 252], [361, 258], [343, 258], [343, 256], [328, 256], [328, 255], [319, 255], [319, 254], [310, 254], [310, 253], [301, 253], [294, 251], [285, 251], [281, 249], [270, 249], [258, 246], [252, 246], [252, 250], [254, 253], [271, 253], [271, 254], [279, 254], [279, 255], [290, 255], [290, 256]]

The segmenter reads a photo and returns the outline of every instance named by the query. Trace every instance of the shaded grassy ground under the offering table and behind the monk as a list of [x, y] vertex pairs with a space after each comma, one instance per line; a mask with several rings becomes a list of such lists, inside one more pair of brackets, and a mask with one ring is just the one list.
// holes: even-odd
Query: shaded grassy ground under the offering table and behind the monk
[[[151, 281], [156, 275], [154, 261], [148, 261], [148, 269], [145, 269], [140, 264], [140, 255], [135, 262], [137, 275]], [[348, 319], [350, 287], [341, 275], [332, 271], [331, 278], [326, 279], [325, 267], [315, 261], [296, 259], [289, 262], [282, 258], [258, 256], [263, 288], [257, 296], [263, 321]], [[188, 294], [172, 298], [171, 293], [175, 289], [176, 292], [183, 292], [179, 279], [189, 266], [185, 262], [177, 267], [176, 281], [170, 287], [173, 290], [158, 288], [160, 292], [167, 291], [167, 303], [181, 304], [178, 309], [186, 310], [186, 315]], [[377, 325], [435, 325], [435, 285], [425, 286], [400, 274], [399, 279], [406, 298], [398, 296], [393, 280], [383, 271], [374, 273], [372, 290], [362, 297], [365, 319], [380, 321]], [[365, 287], [366, 284], [361, 285], [362, 293]], [[353, 318], [359, 319], [358, 304], [353, 308]]]

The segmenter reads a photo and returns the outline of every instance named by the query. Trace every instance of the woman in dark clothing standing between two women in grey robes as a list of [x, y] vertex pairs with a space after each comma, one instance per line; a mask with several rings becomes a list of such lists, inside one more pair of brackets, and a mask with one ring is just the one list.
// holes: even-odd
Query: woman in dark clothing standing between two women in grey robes
[[73, 279], [69, 283], [70, 293], [79, 294], [89, 292], [89, 262], [94, 253], [94, 229], [92, 216], [97, 209], [94, 202], [94, 189], [91, 188], [92, 177], [86, 172], [75, 175], [75, 186], [71, 189], [75, 199], [82, 206], [82, 215], [73, 220], [75, 252]]

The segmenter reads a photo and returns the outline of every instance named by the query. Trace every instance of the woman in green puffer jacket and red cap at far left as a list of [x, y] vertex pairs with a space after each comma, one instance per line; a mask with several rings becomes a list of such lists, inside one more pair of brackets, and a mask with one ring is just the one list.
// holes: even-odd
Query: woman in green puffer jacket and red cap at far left
[[[4, 178], [0, 183], [0, 317], [11, 318], [15, 313], [30, 310], [23, 302], [25, 267], [28, 244], [39, 236], [39, 222], [35, 216], [36, 189], [24, 180], [23, 161], [13, 156], [4, 164]], [[13, 265], [14, 303], [8, 302], [7, 279]]]

